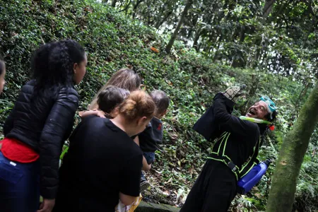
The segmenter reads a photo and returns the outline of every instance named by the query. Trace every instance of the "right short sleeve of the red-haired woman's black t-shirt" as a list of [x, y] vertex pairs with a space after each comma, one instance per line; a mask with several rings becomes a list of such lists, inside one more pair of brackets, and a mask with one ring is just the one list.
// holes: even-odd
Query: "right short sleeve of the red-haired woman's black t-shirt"
[[129, 196], [139, 196], [142, 163], [143, 155], [141, 154], [136, 155], [126, 163], [121, 172], [120, 182], [122, 183], [119, 192]]

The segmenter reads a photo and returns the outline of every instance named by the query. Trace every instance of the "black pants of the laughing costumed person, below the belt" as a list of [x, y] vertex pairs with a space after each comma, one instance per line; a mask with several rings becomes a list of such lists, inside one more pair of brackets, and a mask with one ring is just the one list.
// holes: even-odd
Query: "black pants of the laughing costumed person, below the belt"
[[208, 160], [180, 212], [226, 212], [237, 193], [232, 171], [216, 160]]

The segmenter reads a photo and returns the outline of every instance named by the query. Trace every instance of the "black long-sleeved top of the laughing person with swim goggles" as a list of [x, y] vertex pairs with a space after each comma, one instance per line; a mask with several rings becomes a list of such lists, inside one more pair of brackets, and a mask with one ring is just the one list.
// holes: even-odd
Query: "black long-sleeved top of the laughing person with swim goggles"
[[[261, 131], [258, 124], [230, 114], [233, 106], [234, 102], [228, 100], [222, 93], [216, 94], [213, 106], [196, 122], [194, 130], [204, 134], [208, 141], [217, 138], [220, 133], [230, 133], [226, 139], [225, 155], [241, 168], [252, 156]], [[213, 146], [213, 152], [218, 152], [220, 143], [217, 142]]]

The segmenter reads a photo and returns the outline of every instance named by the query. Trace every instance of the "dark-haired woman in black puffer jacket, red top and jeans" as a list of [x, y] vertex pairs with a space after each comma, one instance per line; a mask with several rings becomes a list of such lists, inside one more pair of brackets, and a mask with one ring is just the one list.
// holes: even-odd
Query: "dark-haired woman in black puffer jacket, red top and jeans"
[[59, 182], [59, 155], [78, 107], [74, 84], [86, 73], [83, 47], [74, 40], [42, 45], [4, 124], [0, 152], [1, 211], [52, 211]]

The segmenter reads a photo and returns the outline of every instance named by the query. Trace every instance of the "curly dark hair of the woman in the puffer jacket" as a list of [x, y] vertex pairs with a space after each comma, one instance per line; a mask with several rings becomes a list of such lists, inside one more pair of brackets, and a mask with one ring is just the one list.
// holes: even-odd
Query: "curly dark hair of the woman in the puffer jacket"
[[73, 65], [85, 59], [84, 48], [75, 40], [49, 42], [35, 50], [31, 61], [35, 90], [73, 86]]

